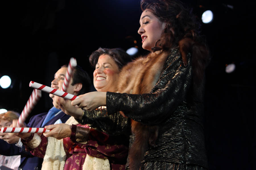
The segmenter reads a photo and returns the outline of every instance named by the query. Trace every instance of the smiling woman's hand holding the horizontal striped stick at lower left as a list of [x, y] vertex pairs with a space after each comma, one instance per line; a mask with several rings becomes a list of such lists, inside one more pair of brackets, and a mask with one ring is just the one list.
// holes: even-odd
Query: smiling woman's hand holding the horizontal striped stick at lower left
[[61, 123], [61, 124], [55, 124], [55, 125], [48, 125], [44, 128], [49, 129], [51, 131], [43, 133], [45, 137], [54, 137], [56, 139], [63, 139], [65, 137], [71, 136], [71, 125]]

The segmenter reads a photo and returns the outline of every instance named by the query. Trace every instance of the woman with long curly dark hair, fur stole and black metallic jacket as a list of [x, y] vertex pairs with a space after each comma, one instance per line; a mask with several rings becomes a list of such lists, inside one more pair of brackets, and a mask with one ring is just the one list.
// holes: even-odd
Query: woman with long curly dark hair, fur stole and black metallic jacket
[[[209, 52], [200, 25], [178, 0], [141, 0], [141, 9], [138, 33], [150, 54], [122, 69], [119, 93], [72, 101], [84, 109], [74, 116], [81, 123], [105, 114], [131, 118], [127, 169], [207, 169], [202, 119]], [[93, 126], [110, 126], [102, 125]]]

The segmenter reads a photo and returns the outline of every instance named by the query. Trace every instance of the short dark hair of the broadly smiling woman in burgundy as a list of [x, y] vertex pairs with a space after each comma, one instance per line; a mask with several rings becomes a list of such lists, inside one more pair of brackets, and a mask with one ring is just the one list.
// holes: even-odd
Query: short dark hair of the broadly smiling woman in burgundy
[[100, 47], [98, 50], [92, 52], [89, 57], [89, 61], [93, 67], [96, 66], [96, 64], [98, 63], [98, 59], [102, 54], [108, 54], [115, 61], [120, 70], [123, 68], [123, 66], [131, 61], [131, 56], [120, 48]]

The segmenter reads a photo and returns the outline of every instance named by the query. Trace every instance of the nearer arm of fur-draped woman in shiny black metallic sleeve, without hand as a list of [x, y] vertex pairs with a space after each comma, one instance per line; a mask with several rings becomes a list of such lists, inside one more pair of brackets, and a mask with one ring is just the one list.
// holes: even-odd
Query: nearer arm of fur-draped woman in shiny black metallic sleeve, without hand
[[170, 60], [158, 82], [148, 94], [120, 94], [107, 92], [108, 113], [124, 112], [125, 116], [146, 125], [156, 125], [170, 116], [186, 99], [191, 85], [191, 58], [185, 67], [181, 57]]

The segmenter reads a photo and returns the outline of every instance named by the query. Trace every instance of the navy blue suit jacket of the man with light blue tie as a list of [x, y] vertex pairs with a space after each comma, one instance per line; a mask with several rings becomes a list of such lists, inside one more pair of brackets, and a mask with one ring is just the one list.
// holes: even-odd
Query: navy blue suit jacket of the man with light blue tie
[[[37, 114], [30, 118], [28, 123], [28, 127], [31, 128], [41, 128], [44, 118], [46, 117], [48, 112]], [[54, 118], [49, 120], [45, 126], [54, 124], [58, 119], [61, 119], [61, 122], [65, 123], [70, 116], [65, 114], [64, 112], [60, 112]], [[19, 169], [23, 170], [34, 170], [34, 169], [41, 169], [42, 167], [42, 158], [38, 158], [30, 154], [30, 152], [25, 151], [25, 147], [19, 148], [15, 144], [9, 144], [3, 140], [0, 140], [0, 154], [5, 156], [13, 156], [13, 155], [20, 155], [20, 166]]]

